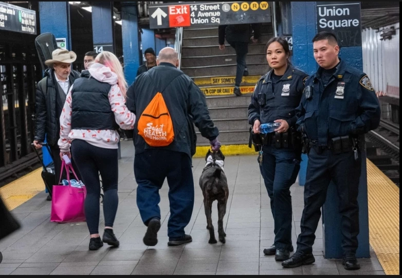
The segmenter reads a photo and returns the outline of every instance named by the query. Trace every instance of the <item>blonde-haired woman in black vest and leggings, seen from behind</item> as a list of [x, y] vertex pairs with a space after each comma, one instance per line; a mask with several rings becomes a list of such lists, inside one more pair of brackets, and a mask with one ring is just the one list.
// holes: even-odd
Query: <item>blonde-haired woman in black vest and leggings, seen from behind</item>
[[[74, 82], [60, 117], [60, 156], [74, 150], [74, 161], [83, 173], [87, 195], [85, 216], [90, 233], [89, 250], [98, 250], [103, 242], [118, 247], [113, 232], [118, 206], [117, 129], [133, 129], [135, 115], [125, 105], [127, 83], [117, 57], [101, 52], [95, 63]], [[102, 177], [105, 230], [100, 238], [99, 201]]]

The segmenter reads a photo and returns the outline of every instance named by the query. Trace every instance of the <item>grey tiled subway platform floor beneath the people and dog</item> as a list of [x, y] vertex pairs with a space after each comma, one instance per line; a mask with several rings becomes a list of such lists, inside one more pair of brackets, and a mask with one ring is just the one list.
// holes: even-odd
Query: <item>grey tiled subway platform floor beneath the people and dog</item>
[[[322, 228], [317, 230], [314, 245], [316, 263], [296, 269], [283, 269], [275, 258], [264, 256], [264, 248], [273, 243], [273, 219], [269, 198], [259, 173], [257, 156], [228, 156], [225, 173], [230, 197], [224, 219], [226, 244], [208, 244], [203, 195], [198, 179], [205, 160], [194, 158], [195, 204], [186, 233], [193, 242], [179, 247], [168, 247], [169, 219], [168, 185], [160, 191], [162, 227], [159, 243], [147, 247], [142, 243], [146, 231], [136, 205], [137, 184], [133, 173], [134, 148], [132, 142], [122, 142], [119, 161], [119, 209], [115, 233], [120, 240], [117, 249], [103, 246], [88, 251], [89, 235], [85, 223], [50, 223], [50, 202], [39, 193], [12, 212], [21, 221], [22, 228], [0, 241], [3, 262], [0, 275], [61, 275], [61, 274], [295, 274], [295, 275], [383, 275], [385, 272], [374, 251], [371, 258], [360, 259], [361, 269], [346, 271], [340, 260], [325, 260], [322, 255]], [[293, 201], [293, 243], [296, 248], [303, 210], [303, 187], [291, 187]], [[102, 208], [101, 208], [102, 209]], [[213, 206], [213, 224], [217, 236], [217, 208]], [[100, 231], [103, 230], [101, 211]]]

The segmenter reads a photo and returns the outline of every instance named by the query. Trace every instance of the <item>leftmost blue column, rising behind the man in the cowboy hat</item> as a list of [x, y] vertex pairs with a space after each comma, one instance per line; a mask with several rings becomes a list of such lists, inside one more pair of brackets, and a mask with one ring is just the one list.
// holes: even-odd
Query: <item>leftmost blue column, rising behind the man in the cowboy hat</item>
[[41, 33], [52, 33], [56, 38], [65, 38], [71, 50], [70, 6], [68, 2], [39, 2]]

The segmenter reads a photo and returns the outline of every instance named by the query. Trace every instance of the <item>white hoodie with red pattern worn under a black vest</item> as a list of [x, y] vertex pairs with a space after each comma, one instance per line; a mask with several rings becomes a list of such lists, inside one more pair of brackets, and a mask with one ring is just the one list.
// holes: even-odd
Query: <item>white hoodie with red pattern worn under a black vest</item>
[[[96, 80], [112, 85], [109, 91], [109, 103], [111, 110], [115, 114], [116, 123], [122, 129], [134, 129], [135, 115], [131, 113], [126, 105], [125, 99], [121, 94], [120, 88], [117, 85], [117, 75], [110, 68], [96, 63], [89, 68], [90, 75]], [[71, 86], [67, 94], [67, 99], [63, 107], [63, 112], [60, 116], [60, 140], [59, 147], [61, 152], [69, 152], [71, 141], [80, 139], [88, 142], [91, 145], [102, 147], [104, 149], [118, 149], [120, 140], [119, 133], [114, 130], [71, 130]]]

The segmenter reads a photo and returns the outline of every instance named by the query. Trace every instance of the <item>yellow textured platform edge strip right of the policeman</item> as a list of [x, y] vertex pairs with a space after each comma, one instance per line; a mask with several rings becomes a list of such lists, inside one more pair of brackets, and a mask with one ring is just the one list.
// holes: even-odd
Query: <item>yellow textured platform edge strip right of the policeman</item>
[[399, 188], [367, 160], [370, 245], [387, 275], [399, 275]]

